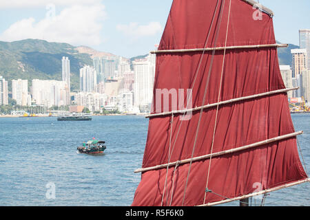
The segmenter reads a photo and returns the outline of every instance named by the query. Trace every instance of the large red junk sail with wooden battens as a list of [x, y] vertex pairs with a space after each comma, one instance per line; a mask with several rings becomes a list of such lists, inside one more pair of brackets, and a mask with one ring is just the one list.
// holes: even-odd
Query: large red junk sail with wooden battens
[[[157, 54], [154, 113], [175, 110], [174, 100], [165, 110], [164, 101], [156, 97], [158, 89], [185, 91], [184, 103], [178, 100], [185, 107], [186, 91], [192, 89], [192, 108], [285, 89], [277, 48], [247, 48], [273, 44], [276, 40], [272, 18], [246, 1], [174, 0], [158, 50], [185, 52]], [[186, 51], [234, 46], [246, 48]], [[156, 102], [161, 102], [160, 109]], [[183, 114], [178, 113], [149, 119], [143, 168], [295, 132], [286, 93], [207, 108], [201, 115], [200, 111], [193, 111], [190, 120], [182, 118]], [[307, 179], [307, 174], [293, 136], [168, 169], [145, 171], [132, 206], [198, 206], [302, 179]]]

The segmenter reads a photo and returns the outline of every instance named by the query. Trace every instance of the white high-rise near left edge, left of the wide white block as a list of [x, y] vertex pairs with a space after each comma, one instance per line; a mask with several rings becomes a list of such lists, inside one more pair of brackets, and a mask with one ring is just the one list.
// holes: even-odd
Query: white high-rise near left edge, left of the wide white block
[[12, 80], [12, 99], [21, 106], [30, 105], [28, 94], [28, 80]]

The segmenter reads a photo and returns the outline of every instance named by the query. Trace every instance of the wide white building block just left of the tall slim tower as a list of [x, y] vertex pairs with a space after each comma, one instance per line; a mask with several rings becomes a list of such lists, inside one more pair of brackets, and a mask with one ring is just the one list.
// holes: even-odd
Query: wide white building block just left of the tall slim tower
[[68, 94], [68, 85], [65, 81], [32, 80], [32, 99], [37, 105], [49, 108], [68, 105], [70, 104]]

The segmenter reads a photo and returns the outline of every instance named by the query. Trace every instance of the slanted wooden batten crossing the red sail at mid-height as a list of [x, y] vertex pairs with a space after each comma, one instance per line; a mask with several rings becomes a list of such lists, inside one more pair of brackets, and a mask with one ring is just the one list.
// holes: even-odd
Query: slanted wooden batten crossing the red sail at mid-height
[[249, 100], [249, 99], [253, 99], [253, 98], [260, 98], [262, 96], [269, 96], [269, 95], [273, 95], [273, 94], [281, 94], [281, 93], [285, 93], [287, 91], [292, 91], [292, 90], [297, 90], [299, 89], [299, 87], [294, 87], [294, 88], [289, 88], [289, 89], [278, 89], [278, 90], [274, 90], [274, 91], [268, 91], [262, 94], [256, 94], [253, 96], [245, 96], [245, 97], [240, 97], [240, 98], [233, 98], [230, 100], [225, 100], [222, 102], [216, 102], [213, 104], [207, 104], [204, 105], [202, 107], [196, 107], [194, 109], [183, 109], [183, 110], [177, 110], [177, 111], [169, 111], [169, 112], [163, 112], [163, 113], [154, 113], [152, 115], [146, 115], [145, 118], [153, 118], [153, 117], [157, 117], [157, 116], [164, 116], [164, 115], [171, 115], [172, 113], [174, 114], [178, 114], [178, 113], [187, 113], [187, 112], [191, 112], [191, 111], [198, 111], [201, 109], [208, 109], [211, 107], [216, 107], [218, 105], [223, 105], [223, 104], [231, 104], [234, 102], [240, 102], [242, 100]]

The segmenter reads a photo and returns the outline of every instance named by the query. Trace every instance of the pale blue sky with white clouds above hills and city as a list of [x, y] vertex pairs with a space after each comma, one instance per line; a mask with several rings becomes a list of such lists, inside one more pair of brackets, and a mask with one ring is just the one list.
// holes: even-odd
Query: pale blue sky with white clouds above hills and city
[[[310, 1], [260, 3], [276, 14], [276, 39], [298, 45], [298, 30], [310, 29]], [[130, 58], [154, 50], [171, 4], [172, 0], [1, 0], [0, 41], [45, 39]]]

